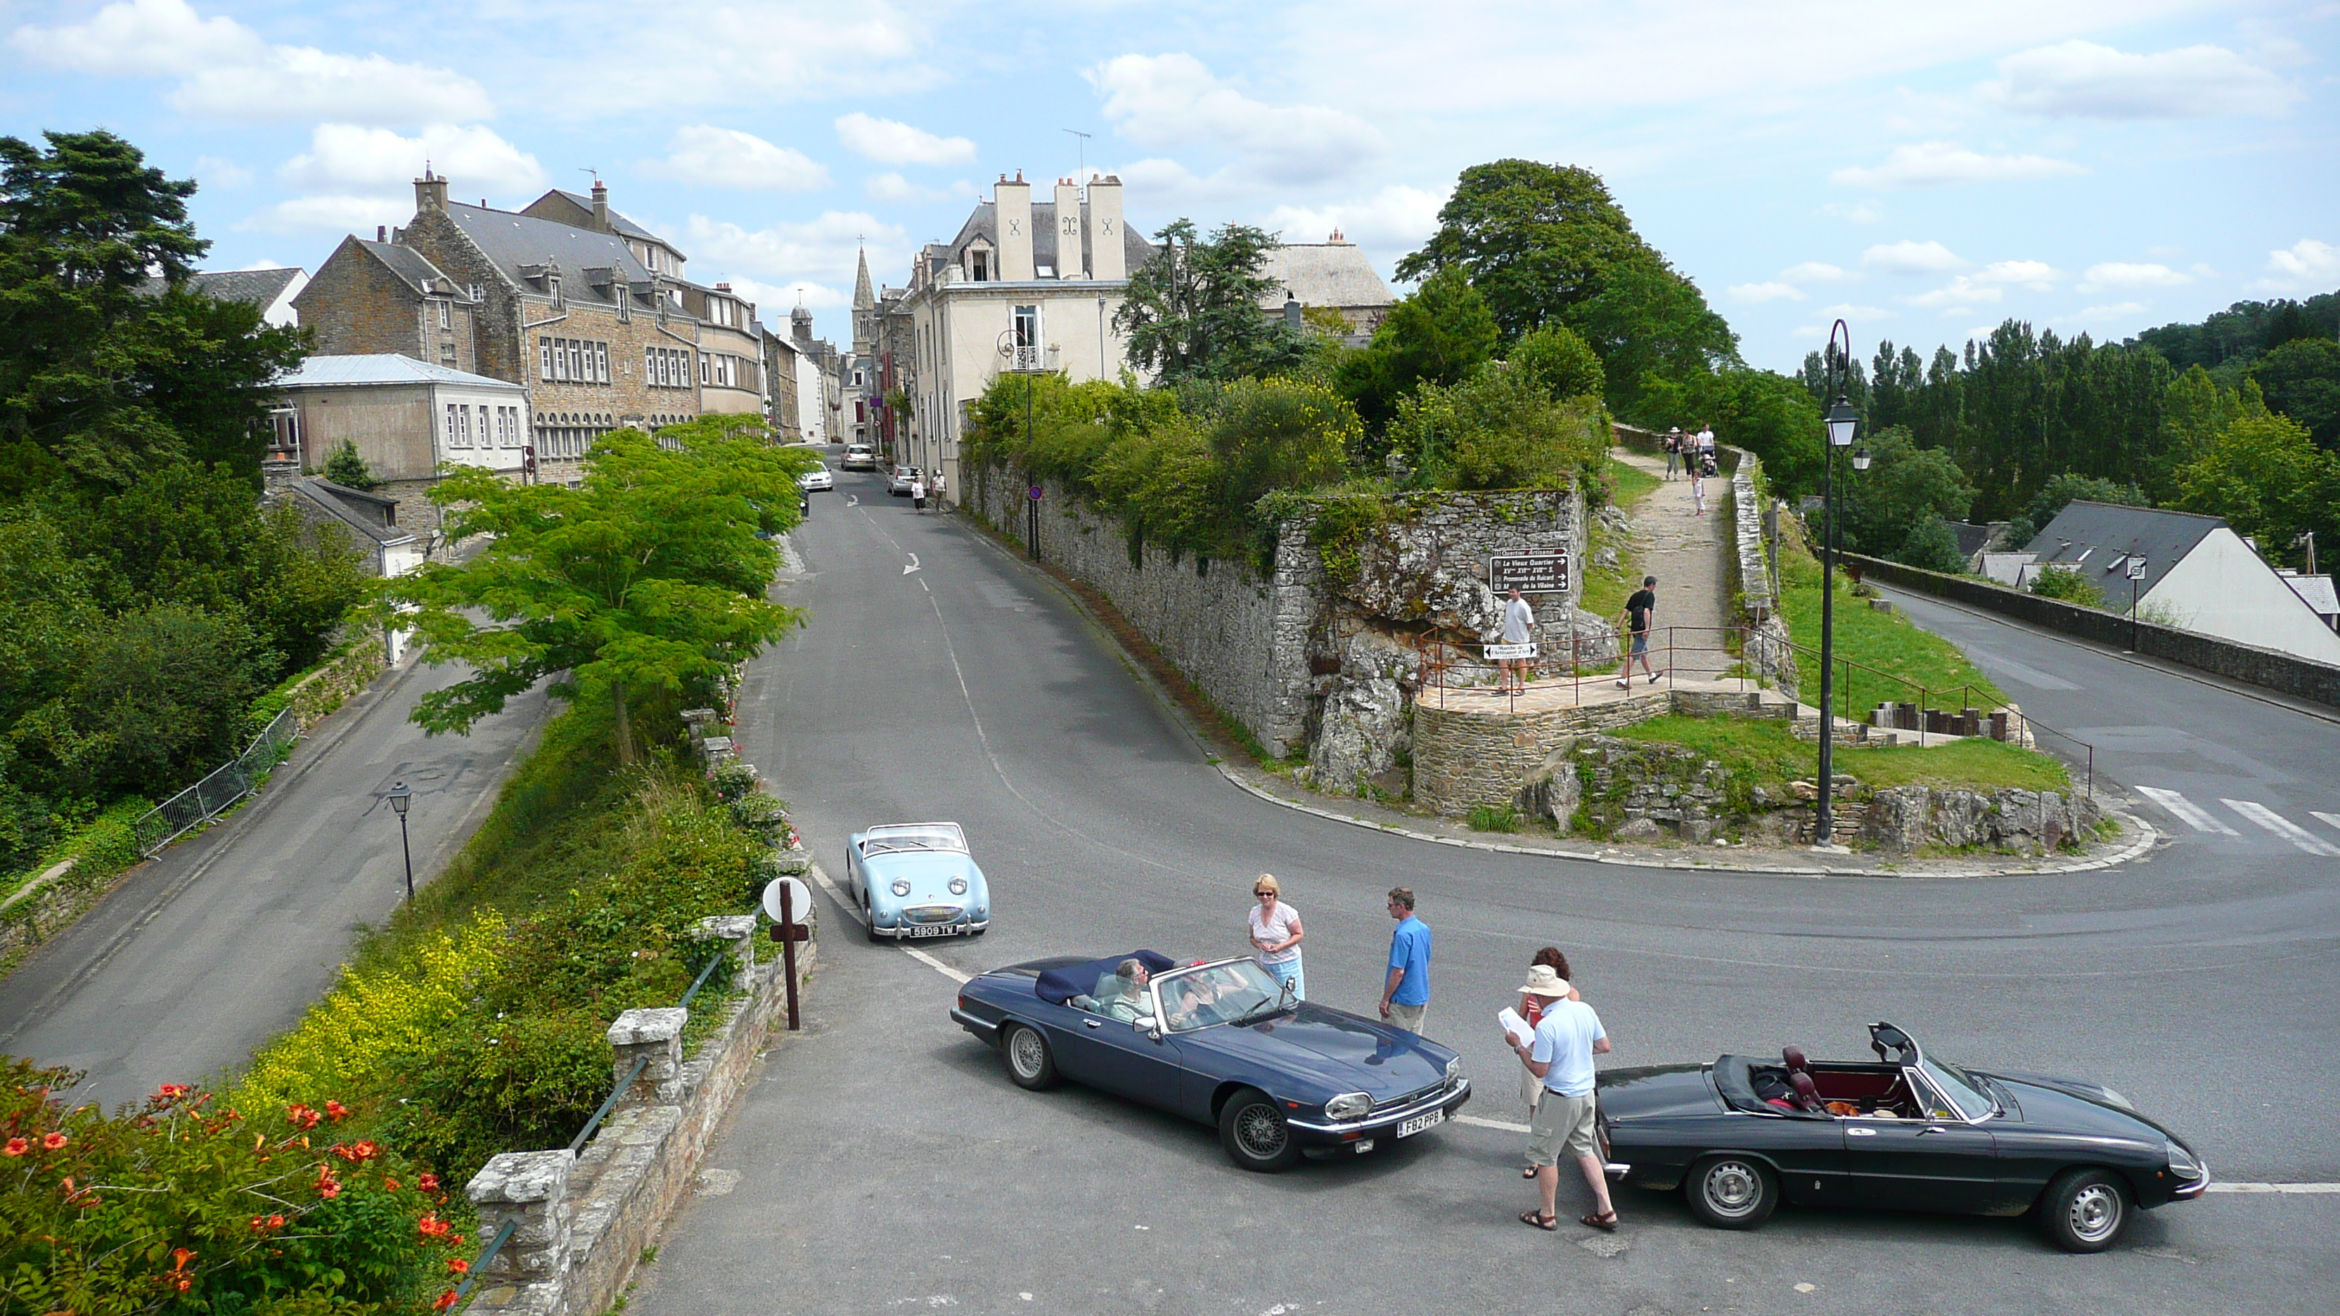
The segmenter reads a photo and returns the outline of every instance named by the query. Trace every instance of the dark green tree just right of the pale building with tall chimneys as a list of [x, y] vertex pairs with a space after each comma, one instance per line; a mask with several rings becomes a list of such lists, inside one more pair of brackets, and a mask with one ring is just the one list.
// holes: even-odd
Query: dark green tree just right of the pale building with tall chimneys
[[1130, 363], [1165, 384], [1264, 375], [1301, 351], [1278, 316], [1259, 309], [1275, 281], [1261, 274], [1275, 234], [1221, 225], [1207, 239], [1193, 220], [1158, 234], [1161, 251], [1130, 274], [1114, 330]]

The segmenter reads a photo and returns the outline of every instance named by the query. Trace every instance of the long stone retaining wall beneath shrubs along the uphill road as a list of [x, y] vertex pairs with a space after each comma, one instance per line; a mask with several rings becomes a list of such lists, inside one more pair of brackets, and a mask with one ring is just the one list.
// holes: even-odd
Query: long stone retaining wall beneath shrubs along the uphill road
[[[1025, 541], [1027, 487], [1009, 471], [969, 464], [959, 499], [1004, 536]], [[1273, 756], [1308, 745], [1308, 635], [1320, 604], [1320, 564], [1306, 529], [1287, 525], [1275, 571], [1247, 562], [1170, 562], [1147, 546], [1130, 562], [1128, 532], [1074, 503], [1058, 485], [1039, 503], [1039, 553], [1095, 588], [1226, 717]]]

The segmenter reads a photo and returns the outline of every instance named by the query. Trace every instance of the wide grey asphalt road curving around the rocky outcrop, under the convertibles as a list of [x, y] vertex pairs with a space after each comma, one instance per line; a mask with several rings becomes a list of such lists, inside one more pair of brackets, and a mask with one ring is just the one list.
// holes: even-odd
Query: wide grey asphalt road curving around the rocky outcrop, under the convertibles
[[[2108, 787], [2209, 801], [2235, 836], [2155, 815], [2174, 841], [2136, 864], [1991, 880], [1495, 855], [1238, 791], [1060, 595], [868, 475], [817, 494], [796, 546], [807, 574], [784, 595], [812, 625], [751, 670], [746, 752], [831, 871], [868, 822], [966, 827], [994, 927], [922, 946], [955, 972], [1240, 951], [1250, 878], [1273, 871], [1308, 925], [1310, 998], [1367, 1012], [1388, 946], [1381, 892], [1406, 883], [1437, 934], [1427, 1030], [1479, 1079], [1470, 1117], [1523, 1117], [1493, 1012], [1549, 941], [1617, 1042], [1605, 1063], [1788, 1042], [1860, 1058], [1863, 1026], [1891, 1019], [1949, 1058], [2108, 1082], [2223, 1180], [2340, 1180], [2340, 859], [2221, 803], [2340, 841], [2310, 813], [2340, 817], [2331, 724], [2115, 660], [2099, 672], [1996, 628], [1977, 658], [2040, 719], [2094, 733]], [[2010, 663], [2047, 681], [2024, 686]], [[824, 927], [807, 1030], [770, 1054], [634, 1309], [2328, 1311], [2340, 1281], [2340, 1197], [2221, 1194], [2141, 1218], [2113, 1253], [2066, 1257], [2019, 1220], [1788, 1208], [1725, 1234], [1678, 1197], [1626, 1192], [1624, 1248], [1603, 1255], [1612, 1241], [1575, 1225], [1514, 1222], [1530, 1197], [1521, 1138], [1502, 1129], [1448, 1124], [1247, 1176], [1203, 1126], [1009, 1087], [945, 1019], [943, 972], [859, 941], [833, 904]], [[1561, 1204], [1580, 1213], [1582, 1187]]]

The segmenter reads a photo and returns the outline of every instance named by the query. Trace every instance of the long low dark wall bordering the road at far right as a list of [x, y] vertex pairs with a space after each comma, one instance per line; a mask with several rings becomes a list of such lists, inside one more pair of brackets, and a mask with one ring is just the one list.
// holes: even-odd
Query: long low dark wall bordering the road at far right
[[2148, 658], [2164, 658], [2214, 677], [2228, 677], [2284, 695], [2340, 707], [2340, 667], [2328, 663], [2296, 658], [2274, 649], [2235, 644], [2232, 639], [2197, 635], [2174, 625], [2155, 625], [2150, 621], [2132, 623], [2118, 614], [2066, 604], [2064, 599], [2043, 599], [2033, 592], [2010, 590], [1975, 576], [1919, 571], [1916, 567], [1902, 567], [1900, 562], [1865, 557], [1860, 553], [1846, 553], [1846, 557], [1860, 564], [1863, 576], [1888, 585], [1989, 609], [2001, 616], [2012, 616], [2045, 630], [2076, 635], [2113, 649], [2132, 649], [2134, 639], [2134, 651]]

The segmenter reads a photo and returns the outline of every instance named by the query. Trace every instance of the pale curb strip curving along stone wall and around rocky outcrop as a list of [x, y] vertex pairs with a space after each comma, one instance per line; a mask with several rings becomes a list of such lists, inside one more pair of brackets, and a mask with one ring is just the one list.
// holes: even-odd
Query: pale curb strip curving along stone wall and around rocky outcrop
[[1734, 864], [1715, 864], [1715, 862], [1708, 862], [1708, 859], [1675, 859], [1675, 857], [1664, 857], [1664, 855], [1633, 855], [1633, 852], [1603, 852], [1603, 850], [1561, 850], [1561, 848], [1551, 848], [1551, 845], [1512, 845], [1512, 843], [1505, 843], [1505, 841], [1470, 841], [1465, 836], [1439, 836], [1434, 831], [1418, 831], [1413, 827], [1399, 827], [1395, 822], [1376, 822], [1371, 817], [1357, 817], [1357, 815], [1350, 815], [1350, 813], [1334, 813], [1329, 808], [1320, 808], [1320, 806], [1313, 806], [1313, 803], [1306, 803], [1306, 801], [1285, 798], [1285, 796], [1280, 796], [1280, 794], [1275, 794], [1275, 791], [1271, 791], [1266, 787], [1259, 787], [1257, 782], [1245, 780], [1240, 770], [1236, 770], [1233, 766], [1226, 763], [1226, 759], [1219, 756], [1219, 749], [1212, 747], [1212, 742], [1203, 733], [1203, 728], [1198, 728], [1191, 717], [1186, 717], [1186, 710], [1179, 707], [1179, 702], [1175, 698], [1170, 698], [1170, 691], [1161, 688], [1161, 681], [1154, 679], [1154, 672], [1147, 672], [1147, 665], [1135, 653], [1130, 653], [1128, 646], [1121, 644], [1121, 637], [1114, 635], [1114, 628], [1104, 625], [1104, 621], [1097, 618], [1097, 614], [1088, 606], [1088, 599], [1083, 599], [1074, 590], [1065, 588], [1065, 583], [1058, 581], [1055, 574], [1037, 567], [1034, 562], [1025, 560], [1020, 553], [1009, 550], [980, 522], [973, 522], [971, 518], [962, 518], [962, 525], [971, 527], [971, 539], [976, 543], [983, 543], [992, 553], [1006, 557], [1018, 569], [1023, 569], [1027, 576], [1037, 576], [1041, 583], [1046, 583], [1051, 590], [1055, 590], [1058, 597], [1062, 597], [1065, 602], [1069, 602], [1072, 609], [1076, 614], [1081, 614], [1081, 618], [1088, 621], [1088, 625], [1100, 637], [1104, 637], [1104, 642], [1114, 649], [1114, 656], [1121, 658], [1121, 665], [1128, 667], [1133, 677], [1137, 677], [1137, 684], [1142, 684], [1154, 695], [1154, 700], [1158, 705], [1163, 705], [1163, 710], [1170, 712], [1172, 721], [1177, 721], [1177, 726], [1182, 731], [1186, 731], [1186, 735], [1203, 749], [1203, 754], [1210, 761], [1210, 766], [1217, 768], [1219, 775], [1226, 777], [1236, 789], [1240, 789], [1240, 791], [1245, 791], [1250, 796], [1264, 798], [1264, 801], [1268, 801], [1273, 806], [1289, 808], [1289, 810], [1296, 810], [1296, 813], [1308, 813], [1308, 815], [1315, 815], [1315, 817], [1322, 817], [1322, 820], [1329, 820], [1329, 822], [1341, 822], [1341, 824], [1348, 824], [1348, 827], [1364, 827], [1369, 831], [1381, 831], [1383, 836], [1404, 836], [1409, 841], [1427, 841], [1432, 845], [1455, 845], [1455, 848], [1462, 848], [1462, 850], [1493, 850], [1498, 855], [1537, 855], [1537, 857], [1544, 857], [1544, 859], [1572, 859], [1572, 862], [1587, 862], [1587, 864], [1610, 864], [1610, 866], [1619, 866], [1619, 869], [1678, 869], [1678, 871], [1694, 871], [1694, 873], [1746, 873], [1746, 876], [1755, 876], [1755, 878], [1764, 878], [1764, 876], [1788, 876], [1788, 878], [1891, 878], [1891, 880], [1912, 880], [1912, 878], [2050, 878], [2050, 876], [2062, 876], [2062, 873], [2090, 873], [2090, 871], [2097, 871], [2097, 869], [2111, 869], [2115, 864], [2127, 864], [2129, 859], [2136, 859], [2136, 857], [2146, 855], [2148, 850], [2153, 850], [2153, 845], [2157, 845], [2162, 841], [2160, 829], [2155, 829], [2150, 822], [2136, 817], [2134, 813], [2108, 810], [2108, 813], [2113, 813], [2113, 817], [2118, 817], [2125, 827], [2129, 827], [2134, 831], [2134, 838], [2127, 845], [2122, 845], [2120, 850], [2111, 852], [2111, 855], [2090, 855], [2090, 857], [2080, 857], [2080, 859], [2059, 859], [2059, 862], [2052, 862], [2052, 864], [2031, 864], [2031, 866], [2019, 866], [2019, 869], [2012, 869], [2012, 866], [1982, 866], [1982, 864], [1977, 864], [1977, 866], [1923, 869], [1923, 871], [1877, 871], [1877, 869], [1851, 866], [1851, 864], [1776, 864], [1776, 866], [1748, 869], [1748, 866], [1734, 866]]

